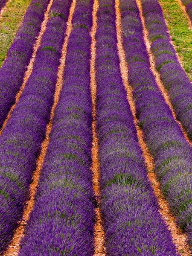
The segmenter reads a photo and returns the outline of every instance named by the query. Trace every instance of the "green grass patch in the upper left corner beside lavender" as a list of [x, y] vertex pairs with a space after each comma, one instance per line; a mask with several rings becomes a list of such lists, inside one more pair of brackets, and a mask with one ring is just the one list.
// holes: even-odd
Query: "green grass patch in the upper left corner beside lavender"
[[6, 57], [31, 0], [11, 0], [0, 18], [0, 66]]

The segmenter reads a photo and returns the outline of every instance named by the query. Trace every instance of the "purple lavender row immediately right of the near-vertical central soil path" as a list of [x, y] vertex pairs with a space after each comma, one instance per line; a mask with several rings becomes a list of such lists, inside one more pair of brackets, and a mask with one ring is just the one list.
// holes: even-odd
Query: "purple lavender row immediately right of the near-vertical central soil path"
[[119, 69], [114, 0], [99, 0], [96, 129], [108, 255], [177, 255], [158, 211]]

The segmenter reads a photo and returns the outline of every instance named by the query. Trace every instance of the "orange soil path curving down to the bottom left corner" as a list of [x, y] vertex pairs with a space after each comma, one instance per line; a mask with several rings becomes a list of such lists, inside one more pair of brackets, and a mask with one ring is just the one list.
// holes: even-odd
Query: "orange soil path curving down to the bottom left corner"
[[73, 17], [73, 12], [75, 10], [75, 6], [76, 6], [76, 0], [73, 0], [72, 4], [70, 6], [70, 12], [69, 12], [69, 17], [68, 17], [68, 21], [67, 21], [66, 37], [64, 39], [64, 44], [62, 47], [62, 54], [61, 54], [61, 58], [60, 58], [61, 64], [59, 65], [58, 72], [57, 72], [58, 78], [57, 78], [56, 87], [55, 87], [54, 102], [53, 102], [53, 105], [51, 108], [49, 123], [47, 124], [47, 128], [46, 128], [46, 136], [45, 136], [43, 143], [41, 144], [41, 153], [37, 159], [37, 168], [35, 169], [35, 171], [33, 173], [32, 183], [29, 188], [29, 191], [30, 191], [29, 201], [26, 202], [26, 207], [23, 211], [22, 221], [20, 221], [19, 226], [15, 230], [12, 242], [9, 245], [8, 250], [6, 250], [6, 252], [4, 253], [4, 256], [17, 256], [18, 251], [19, 251], [19, 246], [20, 246], [20, 240], [23, 237], [23, 233], [24, 233], [24, 230], [26, 227], [26, 221], [29, 219], [30, 212], [32, 211], [32, 209], [34, 207], [35, 192], [36, 192], [36, 189], [38, 186], [38, 180], [40, 177], [41, 168], [44, 163], [45, 154], [47, 152], [47, 147], [49, 145], [49, 134], [52, 129], [52, 119], [54, 116], [55, 107], [58, 103], [59, 94], [62, 89], [62, 80], [63, 80], [65, 60], [66, 60], [66, 53], [67, 53], [67, 44], [68, 44], [69, 37], [70, 37], [70, 34], [73, 29], [72, 17]]

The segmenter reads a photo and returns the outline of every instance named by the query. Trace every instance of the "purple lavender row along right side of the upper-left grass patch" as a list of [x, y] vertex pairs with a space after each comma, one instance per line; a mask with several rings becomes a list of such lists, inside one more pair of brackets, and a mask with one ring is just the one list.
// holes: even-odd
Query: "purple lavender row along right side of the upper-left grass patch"
[[0, 67], [0, 127], [15, 102], [23, 82], [26, 66], [32, 57], [33, 45], [44, 20], [49, 0], [32, 0], [18, 29], [6, 60]]

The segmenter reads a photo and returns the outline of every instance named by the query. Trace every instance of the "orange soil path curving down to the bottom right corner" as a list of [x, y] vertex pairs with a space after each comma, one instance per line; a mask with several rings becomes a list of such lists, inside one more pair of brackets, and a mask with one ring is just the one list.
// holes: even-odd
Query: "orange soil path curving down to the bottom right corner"
[[[137, 0], [138, 3], [138, 0]], [[125, 52], [122, 46], [122, 37], [121, 37], [121, 13], [119, 10], [119, 0], [115, 0], [115, 9], [116, 9], [116, 30], [117, 30], [117, 48], [119, 52], [120, 58], [120, 69], [123, 84], [125, 89], [127, 90], [127, 99], [131, 107], [131, 112], [134, 117], [134, 123], [137, 130], [137, 137], [139, 140], [140, 147], [143, 151], [143, 156], [145, 158], [145, 164], [147, 166], [148, 178], [151, 182], [151, 185], [154, 190], [154, 194], [157, 197], [158, 204], [160, 206], [160, 214], [163, 219], [166, 221], [169, 230], [172, 234], [172, 240], [176, 245], [177, 252], [181, 253], [182, 256], [190, 255], [189, 246], [186, 243], [186, 235], [179, 230], [175, 225], [175, 218], [169, 210], [169, 205], [166, 202], [163, 194], [160, 191], [160, 184], [157, 182], [155, 174], [154, 174], [154, 162], [153, 158], [149, 154], [148, 148], [143, 140], [143, 132], [138, 126], [138, 120], [136, 118], [136, 108], [133, 101], [132, 88], [128, 84], [128, 66], [125, 61]]]

